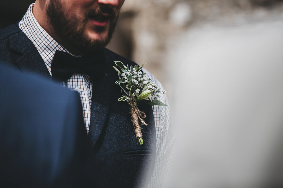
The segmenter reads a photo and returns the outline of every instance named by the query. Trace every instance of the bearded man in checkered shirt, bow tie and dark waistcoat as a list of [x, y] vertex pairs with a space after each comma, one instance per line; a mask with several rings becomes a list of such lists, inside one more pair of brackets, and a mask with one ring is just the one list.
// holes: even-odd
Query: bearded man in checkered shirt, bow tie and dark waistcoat
[[[144, 144], [134, 133], [129, 107], [118, 102], [121, 90], [113, 61], [136, 63], [104, 48], [113, 34], [124, 0], [37, 0], [23, 19], [0, 31], [0, 58], [76, 90], [93, 156], [85, 170], [94, 187], [158, 186], [171, 146], [169, 108], [139, 105], [146, 114]], [[161, 84], [148, 73], [148, 76]], [[165, 95], [159, 100], [167, 102]], [[167, 157], [165, 157], [167, 156]], [[152, 165], [154, 162], [155, 165]]]

